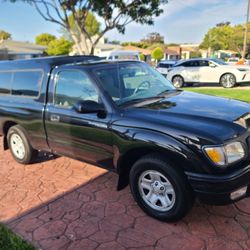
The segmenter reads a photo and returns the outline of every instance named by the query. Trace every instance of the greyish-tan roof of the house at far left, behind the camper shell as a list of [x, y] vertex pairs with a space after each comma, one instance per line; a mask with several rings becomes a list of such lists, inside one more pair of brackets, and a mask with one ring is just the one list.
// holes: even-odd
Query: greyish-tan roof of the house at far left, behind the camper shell
[[8, 54], [42, 54], [47, 46], [13, 40], [0, 41], [0, 50], [7, 49]]

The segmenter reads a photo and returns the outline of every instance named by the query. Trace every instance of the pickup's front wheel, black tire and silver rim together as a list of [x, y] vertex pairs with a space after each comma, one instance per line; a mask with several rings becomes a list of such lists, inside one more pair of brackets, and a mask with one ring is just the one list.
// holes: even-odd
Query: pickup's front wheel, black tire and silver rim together
[[158, 220], [178, 221], [193, 206], [194, 193], [184, 173], [159, 155], [139, 159], [130, 171], [129, 182], [138, 205]]

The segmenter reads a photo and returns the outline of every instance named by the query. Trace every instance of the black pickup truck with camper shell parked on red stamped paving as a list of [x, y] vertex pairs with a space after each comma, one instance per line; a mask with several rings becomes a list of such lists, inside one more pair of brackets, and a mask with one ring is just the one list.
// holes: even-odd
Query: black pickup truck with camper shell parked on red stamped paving
[[4, 149], [52, 152], [117, 172], [138, 205], [181, 219], [195, 197], [250, 194], [250, 104], [175, 89], [137, 61], [52, 57], [0, 63]]

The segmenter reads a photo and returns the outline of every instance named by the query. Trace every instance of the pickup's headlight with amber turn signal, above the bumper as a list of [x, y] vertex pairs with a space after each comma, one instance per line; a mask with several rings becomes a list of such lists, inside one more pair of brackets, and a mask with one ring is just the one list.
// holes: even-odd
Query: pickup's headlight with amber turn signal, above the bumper
[[245, 150], [240, 142], [232, 142], [221, 147], [205, 147], [208, 158], [216, 165], [223, 166], [245, 157]]

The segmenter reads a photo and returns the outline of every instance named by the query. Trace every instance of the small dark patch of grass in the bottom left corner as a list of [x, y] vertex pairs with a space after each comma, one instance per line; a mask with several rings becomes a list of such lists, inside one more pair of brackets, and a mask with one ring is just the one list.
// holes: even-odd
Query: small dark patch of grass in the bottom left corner
[[35, 250], [35, 247], [0, 224], [0, 250]]

